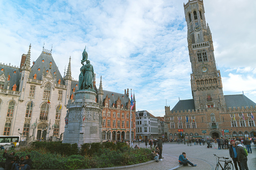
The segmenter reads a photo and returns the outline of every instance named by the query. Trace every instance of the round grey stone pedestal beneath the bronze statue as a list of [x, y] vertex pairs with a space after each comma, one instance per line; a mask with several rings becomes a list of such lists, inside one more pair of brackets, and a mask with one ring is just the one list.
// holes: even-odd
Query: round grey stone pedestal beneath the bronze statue
[[101, 142], [101, 108], [96, 103], [96, 93], [93, 91], [79, 90], [75, 92], [75, 100], [68, 103], [63, 143]]

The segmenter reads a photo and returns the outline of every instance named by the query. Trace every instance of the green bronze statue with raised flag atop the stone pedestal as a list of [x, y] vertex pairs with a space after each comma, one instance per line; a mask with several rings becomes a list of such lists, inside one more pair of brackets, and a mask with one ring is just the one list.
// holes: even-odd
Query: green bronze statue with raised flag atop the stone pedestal
[[93, 65], [90, 64], [90, 61], [87, 59], [88, 59], [88, 54], [86, 52], [86, 49], [84, 48], [82, 53], [81, 64], [83, 65], [83, 62], [86, 62], [86, 65], [83, 65], [80, 68], [79, 90], [95, 91], [94, 84], [93, 84], [94, 67]]

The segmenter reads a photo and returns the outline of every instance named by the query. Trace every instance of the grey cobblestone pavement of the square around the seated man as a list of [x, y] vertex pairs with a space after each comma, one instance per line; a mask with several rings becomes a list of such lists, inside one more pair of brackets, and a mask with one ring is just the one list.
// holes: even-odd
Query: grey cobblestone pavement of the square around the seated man
[[[134, 143], [133, 146], [135, 146]], [[197, 164], [196, 167], [189, 166], [181, 166], [178, 169], [215, 169], [216, 166], [216, 158], [213, 154], [218, 156], [229, 157], [228, 149], [217, 149], [217, 145], [213, 143], [213, 148], [207, 148], [206, 145], [194, 145], [188, 146], [187, 144], [163, 144], [163, 161], [153, 162], [150, 164], [146, 164], [143, 166], [139, 166], [136, 168], [128, 168], [128, 169], [170, 169], [177, 165], [178, 157], [182, 152], [187, 153], [187, 157], [192, 163]], [[139, 147], [145, 147], [145, 143], [140, 143]], [[149, 147], [150, 148], [150, 147]], [[256, 145], [251, 145], [252, 153], [248, 153], [248, 168], [250, 170], [256, 169]], [[231, 158], [230, 158], [231, 159]], [[232, 159], [231, 159], [232, 160]], [[224, 163], [223, 163], [224, 164]], [[235, 168], [234, 168], [235, 169]]]

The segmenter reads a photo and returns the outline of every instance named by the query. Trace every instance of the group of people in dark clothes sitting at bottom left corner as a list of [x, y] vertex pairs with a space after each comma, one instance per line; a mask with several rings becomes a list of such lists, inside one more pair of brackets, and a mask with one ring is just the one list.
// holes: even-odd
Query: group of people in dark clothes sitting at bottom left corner
[[27, 154], [24, 159], [24, 156], [15, 156], [14, 151], [9, 154], [7, 149], [5, 149], [3, 157], [6, 158], [6, 161], [0, 162], [0, 165], [4, 168], [4, 170], [30, 170], [32, 166], [32, 160], [30, 159], [29, 154]]

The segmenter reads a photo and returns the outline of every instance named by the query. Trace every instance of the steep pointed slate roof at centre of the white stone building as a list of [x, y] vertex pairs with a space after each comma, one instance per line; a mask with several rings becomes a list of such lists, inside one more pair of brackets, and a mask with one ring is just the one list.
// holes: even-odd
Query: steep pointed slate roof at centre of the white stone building
[[[56, 81], [55, 83], [58, 84], [58, 80], [60, 79], [60, 84], [64, 85], [64, 79], [62, 78], [59, 69], [51, 55], [51, 53], [46, 53], [46, 50], [43, 50], [40, 56], [37, 58], [35, 64], [31, 67], [31, 72], [29, 75], [29, 78], [33, 79], [34, 74], [37, 75], [37, 80], [42, 80], [42, 74], [43, 70], [45, 68], [45, 75], [46, 70], [50, 68], [50, 62], [52, 62], [51, 65], [51, 74], [54, 77], [54, 72], [56, 72]], [[42, 62], [44, 60], [44, 62]], [[40, 71], [38, 71], [38, 68], [40, 68]]]

